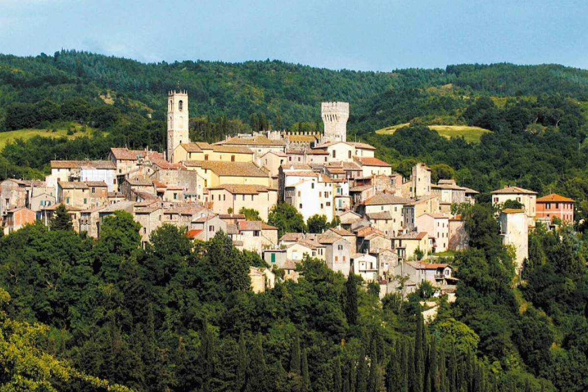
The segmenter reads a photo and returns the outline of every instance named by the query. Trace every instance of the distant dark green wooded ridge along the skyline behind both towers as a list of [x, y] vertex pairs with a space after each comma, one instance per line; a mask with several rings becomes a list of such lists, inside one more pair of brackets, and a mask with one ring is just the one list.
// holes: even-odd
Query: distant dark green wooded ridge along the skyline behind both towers
[[178, 87], [188, 90], [194, 117], [226, 115], [247, 122], [252, 113], [260, 113], [274, 127], [278, 115], [283, 127], [316, 122], [320, 102], [344, 100], [350, 102], [350, 128], [367, 132], [372, 126], [370, 131], [415, 116], [461, 110], [477, 95], [547, 93], [588, 100], [588, 71], [500, 63], [356, 72], [281, 61], [146, 64], [76, 51], [35, 57], [0, 55], [0, 110], [12, 102], [50, 99], [60, 103], [73, 97], [102, 105], [103, 98], [111, 95], [111, 102], [123, 113], [163, 119], [163, 97]]

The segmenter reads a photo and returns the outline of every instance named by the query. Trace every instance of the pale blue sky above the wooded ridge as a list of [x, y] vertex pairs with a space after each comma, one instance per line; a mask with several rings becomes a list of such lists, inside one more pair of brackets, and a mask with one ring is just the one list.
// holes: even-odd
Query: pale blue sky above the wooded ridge
[[269, 58], [362, 71], [474, 62], [588, 69], [587, 22], [585, 0], [0, 0], [0, 53]]

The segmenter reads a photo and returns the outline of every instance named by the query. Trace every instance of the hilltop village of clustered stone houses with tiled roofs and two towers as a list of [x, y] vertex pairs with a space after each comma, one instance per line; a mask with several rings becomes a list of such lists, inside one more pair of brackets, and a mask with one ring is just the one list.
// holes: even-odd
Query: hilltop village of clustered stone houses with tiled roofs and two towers
[[[298, 279], [305, 255], [323, 260], [345, 276], [350, 272], [380, 284], [380, 295], [428, 281], [452, 293], [452, 267], [439, 254], [462, 250], [465, 221], [452, 206], [475, 203], [478, 192], [455, 180], [431, 182], [424, 163], [406, 178], [375, 158], [375, 148], [347, 140], [349, 104], [323, 102], [324, 132], [253, 132], [209, 144], [189, 139], [188, 93], [168, 94], [165, 152], [112, 148], [108, 160], [53, 160], [45, 181], [1, 183], [0, 215], [10, 233], [41, 220], [49, 225], [64, 205], [74, 229], [98, 238], [101, 222], [125, 210], [141, 224], [142, 243], [163, 224], [186, 229], [194, 240], [222, 230], [238, 249], [256, 252], [270, 266]], [[503, 209], [503, 242], [516, 250], [520, 269], [528, 256], [528, 230], [536, 221], [573, 222], [574, 200], [515, 186], [492, 192], [492, 202], [516, 200]], [[268, 225], [272, 208], [288, 203], [303, 216], [332, 223], [320, 233], [279, 233]], [[247, 220], [255, 210], [260, 220]], [[272, 286], [271, 269], [252, 267], [253, 289]]]

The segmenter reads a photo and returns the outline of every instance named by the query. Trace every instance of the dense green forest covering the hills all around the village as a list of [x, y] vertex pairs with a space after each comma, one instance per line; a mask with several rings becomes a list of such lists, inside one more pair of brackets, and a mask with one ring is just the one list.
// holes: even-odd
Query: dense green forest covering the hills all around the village
[[[98, 240], [58, 214], [50, 228], [0, 238], [6, 390], [588, 390], [588, 71], [503, 63], [355, 72], [279, 61], [143, 64], [75, 51], [0, 55], [1, 132], [51, 132], [64, 122], [90, 129], [9, 141], [0, 180], [42, 179], [51, 159], [105, 159], [116, 146], [162, 151], [166, 93], [180, 88], [189, 92], [193, 140], [320, 130], [320, 102], [345, 100], [348, 138], [376, 146], [394, 170], [407, 176], [426, 162], [434, 181], [479, 190], [464, 213], [470, 249], [451, 262], [457, 301], [437, 299], [437, 318], [425, 322], [420, 301], [431, 300], [431, 287], [380, 301], [377, 285], [313, 259], [299, 265], [298, 283], [254, 294], [249, 266], [263, 261], [222, 233], [194, 244], [163, 226], [142, 249], [125, 213], [106, 219]], [[392, 135], [374, 133], [401, 123]], [[491, 132], [467, 143], [427, 128], [436, 124]], [[576, 200], [574, 225], [530, 234], [520, 279], [489, 205], [489, 192], [506, 184]]]

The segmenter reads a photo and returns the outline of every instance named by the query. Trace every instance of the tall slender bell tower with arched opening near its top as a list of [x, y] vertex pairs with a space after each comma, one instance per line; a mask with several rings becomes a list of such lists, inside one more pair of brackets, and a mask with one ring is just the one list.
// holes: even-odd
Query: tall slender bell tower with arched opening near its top
[[167, 158], [173, 162], [173, 150], [180, 143], [189, 143], [188, 137], [188, 92], [168, 93], [168, 149]]

